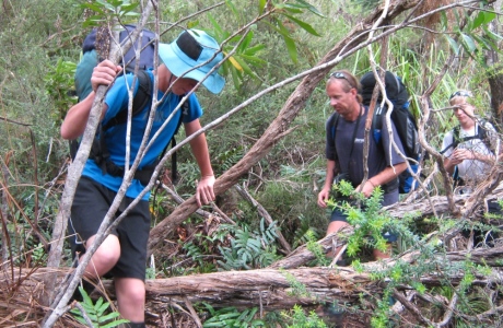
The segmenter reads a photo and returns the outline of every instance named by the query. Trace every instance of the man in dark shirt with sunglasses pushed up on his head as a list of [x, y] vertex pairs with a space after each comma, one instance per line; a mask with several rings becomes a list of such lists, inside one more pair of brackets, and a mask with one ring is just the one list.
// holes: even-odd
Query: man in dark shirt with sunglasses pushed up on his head
[[[318, 194], [318, 206], [327, 207], [334, 180], [341, 177], [353, 185], [356, 190], [370, 197], [377, 186], [384, 190], [383, 206], [389, 206], [398, 201], [398, 176], [407, 168], [405, 160], [398, 155], [393, 147], [388, 133], [382, 133], [379, 144], [374, 138], [370, 138], [369, 159], [363, 163], [363, 143], [365, 120], [369, 108], [362, 105], [362, 96], [359, 94], [360, 82], [347, 70], [336, 71], [330, 74], [326, 93], [330, 106], [335, 113], [326, 122], [327, 172], [325, 185]], [[386, 125], [386, 122], [383, 122]], [[384, 126], [386, 127], [386, 126]], [[403, 148], [393, 125], [394, 139], [401, 152]], [[383, 131], [387, 131], [383, 128]], [[364, 181], [364, 165], [369, 167], [369, 178]], [[348, 226], [347, 214], [336, 208], [328, 224], [327, 235]], [[388, 243], [396, 242], [397, 236], [384, 232]], [[390, 250], [390, 244], [388, 244]], [[337, 256], [336, 249], [334, 256]], [[389, 251], [373, 250], [376, 259], [389, 257]]]

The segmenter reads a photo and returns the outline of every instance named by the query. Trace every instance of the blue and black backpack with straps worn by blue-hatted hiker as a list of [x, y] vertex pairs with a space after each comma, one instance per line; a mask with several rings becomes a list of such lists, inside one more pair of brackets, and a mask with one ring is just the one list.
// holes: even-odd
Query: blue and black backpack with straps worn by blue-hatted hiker
[[[126, 39], [136, 28], [134, 25], [126, 25], [126, 28], [120, 32], [119, 40], [122, 42]], [[139, 59], [139, 70], [138, 70], [138, 91], [134, 94], [134, 98], [132, 102], [132, 116], [138, 115], [152, 99], [152, 81], [149, 74], [145, 72], [147, 69], [152, 69], [154, 66], [154, 44], [152, 40], [155, 38], [155, 34], [152, 31], [143, 30], [142, 38], [141, 38], [141, 47], [142, 51]], [[74, 77], [74, 84], [77, 96], [79, 102], [85, 98], [92, 91], [91, 85], [91, 75], [93, 72], [94, 67], [103, 59], [101, 59], [95, 49], [95, 42], [96, 42], [96, 30], [93, 30], [84, 39], [82, 45], [82, 60], [79, 62], [75, 77]], [[134, 57], [134, 45], [128, 50], [128, 52], [124, 56], [124, 62], [126, 65], [125, 72], [133, 72], [134, 67], [137, 63]], [[184, 113], [188, 113], [189, 102], [188, 99], [183, 104], [180, 108], [182, 115], [180, 119], [177, 124], [175, 133], [178, 132], [178, 129], [183, 121]], [[149, 107], [150, 110], [150, 107]], [[110, 119], [105, 126], [100, 125], [97, 134], [104, 136], [103, 132], [107, 129], [116, 126], [126, 124], [128, 119], [128, 110], [120, 110], [117, 116]], [[172, 139], [172, 147], [176, 145], [175, 137]], [[167, 147], [166, 147], [167, 149]], [[164, 149], [161, 157], [164, 155], [166, 149]], [[77, 151], [79, 150], [79, 142], [78, 140], [70, 141], [70, 155], [72, 159], [75, 157]], [[109, 160], [109, 152], [104, 142], [104, 138], [95, 138], [93, 141], [93, 145], [90, 152], [90, 159], [94, 160], [96, 164], [98, 164], [103, 171], [103, 173], [108, 173], [114, 176], [124, 176], [124, 167], [118, 167], [115, 165], [114, 162]], [[134, 178], [139, 179], [143, 185], [147, 185], [150, 181], [150, 178], [153, 174], [153, 171], [156, 166], [156, 163], [150, 165], [149, 167], [143, 167], [142, 169], [138, 169], [134, 173]], [[172, 181], [175, 184], [177, 180], [177, 169], [176, 169], [176, 152], [173, 153], [172, 156]]]

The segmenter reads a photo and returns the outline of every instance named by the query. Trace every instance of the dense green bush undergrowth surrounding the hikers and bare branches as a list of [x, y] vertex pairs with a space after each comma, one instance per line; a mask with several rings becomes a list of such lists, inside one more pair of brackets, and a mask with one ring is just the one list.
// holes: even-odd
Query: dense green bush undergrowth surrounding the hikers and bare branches
[[[127, 14], [124, 13], [122, 19], [138, 22], [139, 16], [130, 15], [125, 9], [131, 2], [138, 1], [0, 1], [0, 303], [7, 304], [0, 305], [0, 327], [23, 324], [35, 327], [46, 315], [46, 308], [35, 297], [42, 293], [35, 276], [47, 266], [71, 164], [69, 144], [61, 139], [59, 127], [68, 108], [77, 102], [73, 74], [83, 38], [91, 31], [85, 23], [92, 21], [96, 8], [107, 5], [125, 11]], [[201, 118], [204, 126], [260, 91], [315, 67], [384, 1], [159, 2], [162, 31], [178, 22], [179, 27], [207, 30], [218, 36], [219, 42], [258, 16], [260, 8], [262, 12], [277, 8], [250, 25], [247, 49], [242, 49], [222, 68], [226, 74], [223, 93], [215, 96], [206, 90], [198, 92], [204, 108]], [[422, 2], [414, 16], [454, 1]], [[139, 8], [133, 10], [138, 11]], [[195, 13], [198, 14], [192, 15]], [[103, 19], [105, 14], [101, 14]], [[405, 10], [383, 31], [410, 14], [411, 10]], [[425, 141], [432, 151], [440, 151], [443, 136], [457, 124], [452, 110], [447, 110], [448, 96], [456, 90], [471, 90], [475, 105], [480, 109], [478, 115], [496, 125], [501, 122], [501, 112], [494, 108], [488, 82], [489, 78], [502, 75], [501, 65], [498, 60], [489, 62], [487, 55], [490, 51], [494, 58], [501, 55], [494, 50], [501, 45], [501, 31], [496, 28], [501, 28], [500, 15], [501, 1], [494, 8], [484, 1], [471, 1], [465, 8], [445, 9], [394, 32], [384, 42], [375, 42], [344, 56], [331, 69], [348, 69], [361, 77], [373, 63], [381, 62], [401, 77]], [[154, 15], [149, 23], [147, 27], [153, 30]], [[168, 30], [161, 42], [171, 42], [179, 27]], [[232, 47], [227, 47], [224, 50], [229, 52]], [[217, 177], [229, 172], [249, 152], [280, 116], [300, 81], [262, 95], [207, 131]], [[424, 98], [432, 85], [434, 92]], [[422, 121], [425, 104], [429, 120]], [[361, 280], [351, 285], [313, 286], [301, 281], [302, 274], [289, 271], [297, 268], [280, 269], [288, 282], [281, 295], [285, 300], [296, 297], [297, 304], [288, 303], [289, 306], [281, 307], [280, 305], [268, 307], [261, 301], [252, 304], [237, 297], [235, 306], [220, 306], [203, 297], [194, 304], [169, 297], [155, 298], [147, 304], [149, 326], [332, 327], [335, 323], [324, 312], [330, 304], [331, 308], [343, 309], [346, 318], [339, 325], [347, 327], [503, 325], [501, 218], [484, 215], [483, 203], [473, 207], [468, 218], [459, 211], [449, 211], [446, 186], [452, 181], [444, 184], [446, 176], [440, 172], [438, 161], [428, 152], [421, 161], [424, 188], [414, 196], [401, 196], [403, 212], [400, 206], [383, 211], [379, 206], [382, 190], [370, 199], [360, 199], [365, 204], [363, 208], [343, 206], [355, 229], [336, 239], [346, 247], [348, 270], [351, 271], [334, 266], [325, 251], [328, 242], [319, 242], [325, 237], [329, 210], [316, 203], [325, 181], [325, 122], [332, 110], [326, 99], [324, 79], [286, 126], [288, 133], [266, 155], [213, 203], [190, 214], [152, 249], [147, 273], [148, 279], [167, 280], [260, 270], [286, 260], [295, 249], [304, 247], [312, 257], [302, 267], [330, 268], [327, 277], [331, 280], [340, 277], [344, 281]], [[182, 140], [182, 136], [185, 131], [178, 133], [178, 139]], [[180, 178], [176, 184], [169, 179], [171, 168], [169, 164], [164, 167], [160, 183], [152, 189], [152, 229], [194, 195], [199, 178], [188, 145], [177, 151]], [[499, 171], [493, 172], [494, 179], [500, 178]], [[482, 192], [482, 187], [477, 190]], [[360, 197], [344, 184], [337, 188], [354, 199]], [[501, 198], [500, 189], [491, 191], [489, 196]], [[467, 199], [456, 200], [458, 210]], [[440, 202], [445, 206], [441, 208]], [[414, 203], [418, 207], [411, 206]], [[381, 235], [384, 230], [399, 235], [389, 266], [371, 261], [371, 249], [385, 248]], [[488, 233], [491, 230], [492, 233]], [[372, 263], [367, 266], [369, 262]], [[65, 247], [61, 268], [72, 266], [69, 247]], [[26, 286], [24, 281], [31, 283]], [[267, 292], [276, 292], [274, 289], [280, 288]], [[87, 295], [83, 289], [80, 293], [84, 301], [59, 319], [60, 327], [116, 327], [122, 323], [113, 297], [96, 292]]]

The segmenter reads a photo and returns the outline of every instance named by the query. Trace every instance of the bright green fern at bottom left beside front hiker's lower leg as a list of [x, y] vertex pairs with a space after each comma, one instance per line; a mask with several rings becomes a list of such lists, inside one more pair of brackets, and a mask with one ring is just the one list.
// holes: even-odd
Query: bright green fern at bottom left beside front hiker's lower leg
[[110, 312], [106, 314], [110, 304], [108, 302], [104, 302], [103, 297], [100, 297], [94, 304], [93, 300], [91, 300], [82, 286], [79, 286], [79, 291], [83, 297], [83, 302], [80, 304], [85, 311], [85, 314], [82, 314], [79, 308], [72, 308], [70, 313], [82, 325], [87, 326], [87, 321], [85, 320], [84, 315], [91, 319], [93, 327], [96, 328], [112, 328], [117, 327], [120, 324], [129, 323], [129, 320], [126, 319], [117, 319], [120, 316], [118, 312]]

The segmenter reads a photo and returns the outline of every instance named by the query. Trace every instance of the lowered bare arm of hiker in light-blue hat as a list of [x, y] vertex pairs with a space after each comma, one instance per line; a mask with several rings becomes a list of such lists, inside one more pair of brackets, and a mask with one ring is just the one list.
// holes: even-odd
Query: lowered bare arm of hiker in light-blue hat
[[[201, 128], [199, 119], [195, 119], [188, 124], [184, 124], [186, 136], [190, 136]], [[190, 142], [192, 154], [201, 172], [201, 179], [198, 183], [196, 190], [196, 199], [199, 206], [207, 204], [214, 200], [214, 175], [211, 167], [210, 152], [208, 151], [208, 143], [204, 133], [194, 138]]]

